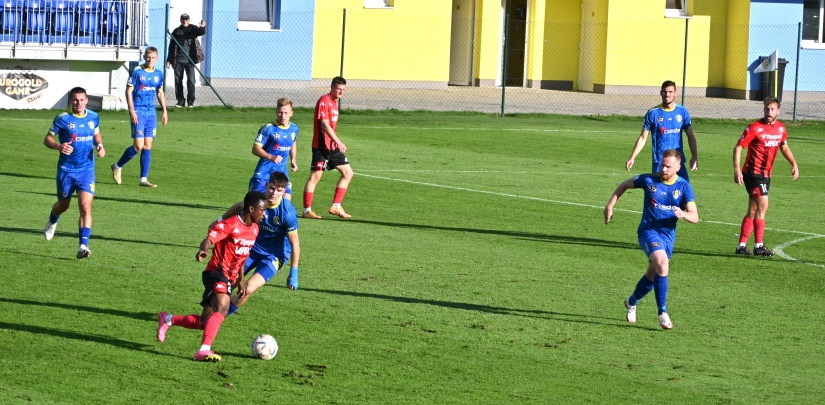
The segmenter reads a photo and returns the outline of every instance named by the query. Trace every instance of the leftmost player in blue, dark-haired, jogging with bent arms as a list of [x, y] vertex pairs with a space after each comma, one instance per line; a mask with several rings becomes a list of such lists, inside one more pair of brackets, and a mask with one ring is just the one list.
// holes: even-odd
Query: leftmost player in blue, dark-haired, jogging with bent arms
[[86, 109], [86, 90], [75, 87], [69, 91], [71, 110], [57, 115], [43, 144], [60, 151], [57, 158], [57, 202], [52, 205], [49, 221], [43, 229], [46, 240], [52, 240], [60, 215], [69, 209], [72, 194], [77, 192], [80, 218], [77, 221], [80, 245], [77, 258], [89, 257], [92, 236], [92, 200], [95, 196], [95, 154], [106, 155], [100, 135], [97, 113]]

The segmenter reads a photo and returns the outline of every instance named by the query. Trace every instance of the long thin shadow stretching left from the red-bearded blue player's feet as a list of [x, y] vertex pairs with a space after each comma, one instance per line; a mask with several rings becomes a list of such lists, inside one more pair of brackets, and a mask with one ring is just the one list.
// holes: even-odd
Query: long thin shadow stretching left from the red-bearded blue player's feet
[[486, 313], [497, 314], [497, 315], [525, 316], [525, 317], [539, 318], [539, 319], [553, 319], [553, 320], [558, 320], [558, 321], [563, 321], [563, 322], [577, 322], [577, 323], [587, 323], [587, 324], [594, 324], [594, 325], [618, 326], [618, 327], [623, 327], [623, 328], [624, 327], [637, 328], [637, 326], [628, 325], [627, 323], [623, 322], [621, 317], [607, 318], [607, 317], [602, 317], [602, 316], [582, 315], [582, 314], [556, 312], [556, 311], [545, 311], [545, 310], [538, 310], [538, 309], [515, 309], [515, 308], [497, 307], [497, 306], [492, 306], [492, 305], [471, 304], [471, 303], [466, 303], [466, 302], [428, 300], [428, 299], [412, 298], [412, 297], [397, 297], [397, 296], [392, 296], [392, 295], [373, 294], [373, 293], [354, 292], [354, 291], [321, 290], [321, 289], [316, 289], [316, 288], [301, 288], [301, 291], [310, 291], [310, 292], [316, 292], [316, 293], [321, 293], [321, 294], [345, 295], [345, 296], [349, 296], [349, 297], [358, 297], [358, 298], [372, 298], [372, 299], [380, 299], [380, 300], [387, 300], [387, 301], [393, 301], [393, 302], [400, 302], [400, 303], [405, 303], [405, 304], [434, 305], [434, 306], [444, 307], [444, 308], [463, 309], [463, 310], [466, 310], [466, 311], [486, 312]]

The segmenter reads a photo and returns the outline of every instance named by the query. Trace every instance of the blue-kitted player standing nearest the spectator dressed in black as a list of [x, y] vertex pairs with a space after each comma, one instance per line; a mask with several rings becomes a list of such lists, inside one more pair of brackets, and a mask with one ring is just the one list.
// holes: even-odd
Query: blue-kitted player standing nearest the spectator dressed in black
[[132, 122], [133, 144], [126, 148], [120, 160], [112, 165], [112, 177], [117, 184], [121, 183], [123, 166], [140, 153], [140, 182], [138, 184], [143, 187], [157, 187], [149, 182], [152, 141], [155, 139], [158, 127], [155, 98], [163, 108], [161, 122], [166, 125], [169, 120], [166, 114], [166, 96], [163, 95], [163, 72], [161, 69], [155, 69], [157, 60], [157, 48], [154, 46], [146, 48], [143, 54], [144, 64], [136, 67], [129, 76], [129, 81], [126, 82], [126, 104], [129, 106], [129, 116]]

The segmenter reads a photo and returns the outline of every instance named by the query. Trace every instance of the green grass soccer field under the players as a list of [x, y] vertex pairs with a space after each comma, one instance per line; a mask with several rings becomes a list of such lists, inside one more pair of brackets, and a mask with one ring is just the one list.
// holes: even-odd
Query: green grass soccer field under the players
[[[345, 101], [346, 102], [346, 101]], [[674, 329], [653, 294], [628, 324], [622, 301], [646, 266], [642, 192], [613, 221], [641, 117], [345, 111], [356, 173], [350, 220], [300, 220], [300, 290], [279, 273], [227, 318], [216, 364], [200, 331], [155, 338], [157, 313], [200, 313], [207, 226], [243, 198], [250, 153], [273, 109], [171, 110], [150, 179], [128, 114], [101, 113], [92, 255], [75, 259], [77, 204], [45, 241], [56, 111], [2, 111], [2, 403], [818, 403], [825, 398], [825, 124], [788, 125], [801, 175], [777, 157], [769, 259], [733, 255], [747, 195], [731, 155], [746, 121], [694, 120], [700, 222], [680, 221], [670, 268]], [[760, 116], [754, 111], [754, 118]], [[312, 112], [298, 109], [295, 202], [308, 176]], [[316, 190], [326, 214], [337, 173]], [[749, 246], [752, 247], [752, 239]], [[286, 272], [288, 273], [288, 271]], [[255, 336], [280, 345], [256, 360]]]

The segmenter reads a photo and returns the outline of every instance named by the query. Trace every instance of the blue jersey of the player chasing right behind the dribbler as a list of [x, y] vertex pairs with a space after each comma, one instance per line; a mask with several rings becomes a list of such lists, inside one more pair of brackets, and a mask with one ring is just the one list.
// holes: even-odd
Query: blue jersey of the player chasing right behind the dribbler
[[281, 198], [278, 204], [267, 207], [259, 225], [261, 233], [252, 250], [261, 255], [288, 258], [292, 245], [287, 235], [298, 232], [298, 215], [292, 203]]

